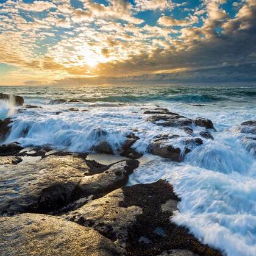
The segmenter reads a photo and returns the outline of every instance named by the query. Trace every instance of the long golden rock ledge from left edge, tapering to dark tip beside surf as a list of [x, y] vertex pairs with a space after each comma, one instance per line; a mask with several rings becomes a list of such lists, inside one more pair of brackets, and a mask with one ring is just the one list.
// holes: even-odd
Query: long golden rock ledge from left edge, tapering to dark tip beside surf
[[78, 155], [49, 155], [36, 163], [5, 166], [0, 215], [49, 213], [81, 197], [100, 196], [125, 185], [137, 166], [136, 160], [127, 160], [95, 174]]

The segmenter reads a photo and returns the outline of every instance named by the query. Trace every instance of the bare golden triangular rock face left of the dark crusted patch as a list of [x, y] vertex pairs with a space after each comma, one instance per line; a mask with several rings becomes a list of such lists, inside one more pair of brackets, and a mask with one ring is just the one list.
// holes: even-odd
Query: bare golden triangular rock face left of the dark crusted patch
[[63, 218], [83, 226], [93, 227], [105, 237], [115, 241], [115, 244], [125, 247], [127, 226], [135, 223], [136, 216], [142, 214], [142, 209], [134, 205], [127, 208], [119, 207], [120, 202], [123, 201], [124, 193], [119, 188], [63, 215]]

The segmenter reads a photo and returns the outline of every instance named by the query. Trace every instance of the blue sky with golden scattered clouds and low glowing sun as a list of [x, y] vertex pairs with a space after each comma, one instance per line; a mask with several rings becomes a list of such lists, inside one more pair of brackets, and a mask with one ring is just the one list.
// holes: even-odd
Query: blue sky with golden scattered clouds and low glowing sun
[[0, 85], [256, 82], [256, 0], [0, 0]]

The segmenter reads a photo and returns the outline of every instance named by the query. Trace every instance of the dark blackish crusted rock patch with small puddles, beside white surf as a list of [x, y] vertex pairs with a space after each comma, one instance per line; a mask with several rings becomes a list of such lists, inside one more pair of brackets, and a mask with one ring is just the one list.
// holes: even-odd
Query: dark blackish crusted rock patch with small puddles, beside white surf
[[124, 201], [119, 203], [120, 207], [137, 206], [143, 210], [141, 215], [137, 215], [136, 222], [127, 226], [128, 255], [158, 255], [177, 248], [198, 255], [221, 255], [200, 243], [185, 227], [171, 222], [179, 198], [169, 183], [159, 180], [151, 184], [124, 187], [123, 193]]

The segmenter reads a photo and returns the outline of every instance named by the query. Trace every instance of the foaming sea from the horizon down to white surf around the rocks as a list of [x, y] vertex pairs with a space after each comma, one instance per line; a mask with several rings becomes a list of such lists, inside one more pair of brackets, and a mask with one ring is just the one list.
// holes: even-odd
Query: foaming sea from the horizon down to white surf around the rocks
[[[133, 148], [148, 160], [129, 185], [168, 180], [182, 199], [175, 222], [229, 256], [256, 255], [256, 152], [246, 150], [237, 130], [256, 120], [256, 86], [0, 87], [0, 93], [41, 107], [17, 113], [10, 102], [0, 101], [0, 119], [15, 118], [5, 143], [88, 152], [104, 138], [115, 151], [133, 132], [140, 137]], [[49, 104], [54, 99], [79, 102]], [[156, 107], [211, 119], [215, 140], [204, 140], [182, 163], [147, 154], [155, 135], [181, 133], [146, 121], [143, 108]]]

